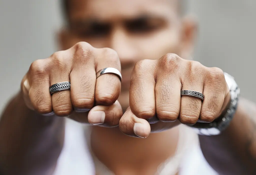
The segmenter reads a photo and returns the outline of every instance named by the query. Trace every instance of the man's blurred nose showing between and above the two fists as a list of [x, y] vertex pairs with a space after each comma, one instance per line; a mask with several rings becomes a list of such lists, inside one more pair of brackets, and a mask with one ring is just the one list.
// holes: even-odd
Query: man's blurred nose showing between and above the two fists
[[133, 40], [122, 27], [116, 27], [111, 35], [110, 47], [120, 58], [122, 69], [129, 68], [137, 62], [138, 53]]

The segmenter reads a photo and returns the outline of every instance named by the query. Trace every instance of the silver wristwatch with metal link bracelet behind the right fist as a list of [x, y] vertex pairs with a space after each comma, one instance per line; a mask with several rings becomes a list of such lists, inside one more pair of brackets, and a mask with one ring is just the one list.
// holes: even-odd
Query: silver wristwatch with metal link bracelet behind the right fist
[[195, 125], [191, 126], [199, 135], [219, 135], [229, 126], [236, 112], [240, 89], [238, 88], [236, 81], [231, 75], [226, 72], [224, 72], [224, 75], [231, 96], [230, 104], [226, 109], [226, 114], [220, 116], [211, 123], [196, 123]]

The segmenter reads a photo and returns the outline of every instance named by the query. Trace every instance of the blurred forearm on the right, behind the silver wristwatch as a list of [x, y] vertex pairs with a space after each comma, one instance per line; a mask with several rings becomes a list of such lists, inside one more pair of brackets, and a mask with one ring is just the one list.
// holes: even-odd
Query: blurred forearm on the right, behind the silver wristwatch
[[206, 160], [220, 174], [256, 174], [256, 105], [240, 99], [230, 126], [199, 140]]

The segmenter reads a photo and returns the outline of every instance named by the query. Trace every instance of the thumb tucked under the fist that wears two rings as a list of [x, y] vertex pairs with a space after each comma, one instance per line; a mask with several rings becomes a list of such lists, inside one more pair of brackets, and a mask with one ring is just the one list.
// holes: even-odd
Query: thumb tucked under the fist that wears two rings
[[94, 106], [88, 114], [88, 122], [98, 126], [115, 127], [119, 125], [122, 115], [122, 107], [116, 101], [110, 106]]

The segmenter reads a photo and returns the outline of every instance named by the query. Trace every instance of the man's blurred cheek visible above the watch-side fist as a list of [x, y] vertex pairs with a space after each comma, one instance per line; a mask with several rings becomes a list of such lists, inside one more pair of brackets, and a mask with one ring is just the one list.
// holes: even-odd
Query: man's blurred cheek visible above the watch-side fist
[[180, 34], [177, 30], [164, 30], [136, 39], [142, 59], [158, 59], [167, 53], [179, 52]]

